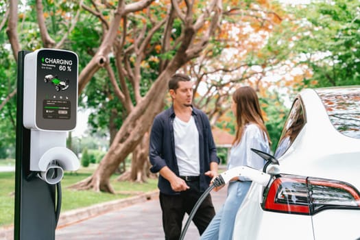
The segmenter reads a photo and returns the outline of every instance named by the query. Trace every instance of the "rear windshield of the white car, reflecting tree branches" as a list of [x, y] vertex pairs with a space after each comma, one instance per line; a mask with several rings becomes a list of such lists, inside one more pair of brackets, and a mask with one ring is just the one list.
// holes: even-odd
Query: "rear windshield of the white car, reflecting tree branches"
[[316, 90], [335, 129], [360, 139], [360, 89], [324, 88]]

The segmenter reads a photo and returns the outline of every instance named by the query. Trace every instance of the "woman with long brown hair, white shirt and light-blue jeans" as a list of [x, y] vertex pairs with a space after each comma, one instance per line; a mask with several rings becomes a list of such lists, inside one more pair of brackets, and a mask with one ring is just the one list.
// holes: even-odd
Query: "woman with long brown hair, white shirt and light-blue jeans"
[[[259, 99], [250, 86], [238, 88], [232, 95], [232, 112], [237, 119], [237, 132], [230, 150], [228, 169], [249, 166], [262, 169], [265, 160], [252, 152], [250, 148], [269, 152], [269, 134], [261, 115]], [[240, 177], [232, 178], [228, 186], [228, 195], [220, 211], [215, 215], [201, 239], [232, 239], [235, 217], [252, 182]], [[219, 189], [215, 189], [218, 191]]]

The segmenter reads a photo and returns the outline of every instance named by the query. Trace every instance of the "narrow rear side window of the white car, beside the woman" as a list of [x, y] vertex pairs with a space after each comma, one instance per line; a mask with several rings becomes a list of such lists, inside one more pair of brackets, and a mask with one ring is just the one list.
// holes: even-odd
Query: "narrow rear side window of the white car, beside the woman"
[[289, 116], [287, 117], [287, 121], [285, 122], [280, 140], [278, 141], [278, 146], [276, 147], [276, 158], [285, 154], [291, 143], [296, 139], [296, 136], [298, 136], [304, 124], [304, 110], [302, 109], [301, 101], [300, 99], [295, 99], [289, 112]]

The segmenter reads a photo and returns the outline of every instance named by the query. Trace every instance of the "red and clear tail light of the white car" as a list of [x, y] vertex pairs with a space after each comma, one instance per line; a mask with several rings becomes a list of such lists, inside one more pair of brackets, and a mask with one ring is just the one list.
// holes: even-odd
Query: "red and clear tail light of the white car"
[[282, 213], [313, 215], [326, 208], [359, 208], [360, 194], [346, 182], [280, 176], [270, 185], [263, 209]]

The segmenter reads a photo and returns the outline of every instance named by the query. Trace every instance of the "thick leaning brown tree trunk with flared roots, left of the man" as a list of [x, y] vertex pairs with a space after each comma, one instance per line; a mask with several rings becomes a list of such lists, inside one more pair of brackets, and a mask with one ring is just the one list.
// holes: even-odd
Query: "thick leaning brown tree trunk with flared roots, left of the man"
[[119, 164], [123, 163], [126, 156], [134, 151], [136, 145], [143, 140], [143, 136], [152, 125], [152, 120], [163, 109], [167, 80], [175, 73], [176, 69], [178, 67], [168, 68], [163, 72], [143, 100], [125, 119], [108, 153], [101, 160], [93, 176], [77, 182], [71, 188], [115, 193], [110, 185], [110, 176], [116, 171]]

